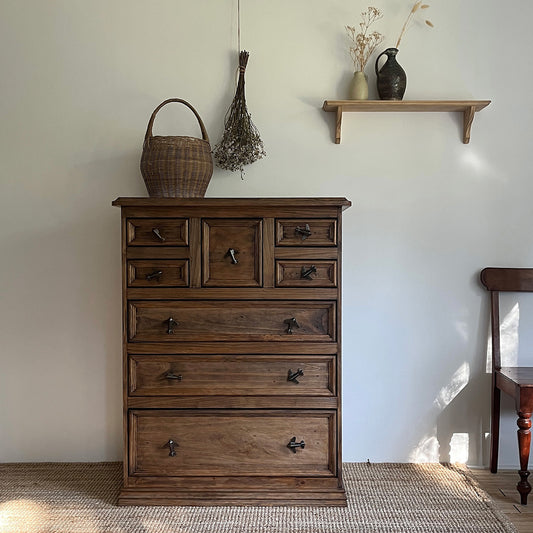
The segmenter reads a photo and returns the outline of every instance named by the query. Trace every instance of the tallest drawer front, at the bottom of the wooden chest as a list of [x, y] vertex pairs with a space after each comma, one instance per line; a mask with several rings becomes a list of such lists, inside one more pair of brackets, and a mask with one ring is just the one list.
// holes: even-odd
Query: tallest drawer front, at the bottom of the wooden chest
[[334, 411], [130, 411], [130, 475], [334, 476], [335, 430]]

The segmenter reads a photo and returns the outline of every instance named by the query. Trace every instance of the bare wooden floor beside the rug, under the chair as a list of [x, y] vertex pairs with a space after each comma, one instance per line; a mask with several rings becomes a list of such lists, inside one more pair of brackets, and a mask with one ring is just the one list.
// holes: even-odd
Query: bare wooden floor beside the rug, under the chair
[[516, 470], [499, 470], [497, 474], [491, 474], [488, 469], [471, 468], [470, 471], [520, 533], [533, 533], [533, 492], [529, 495], [528, 504], [520, 505]]

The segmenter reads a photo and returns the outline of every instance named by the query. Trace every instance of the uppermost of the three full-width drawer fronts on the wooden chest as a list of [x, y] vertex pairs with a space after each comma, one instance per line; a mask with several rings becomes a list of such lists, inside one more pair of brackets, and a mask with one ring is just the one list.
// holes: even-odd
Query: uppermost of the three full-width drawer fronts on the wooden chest
[[335, 302], [134, 301], [131, 342], [335, 340]]

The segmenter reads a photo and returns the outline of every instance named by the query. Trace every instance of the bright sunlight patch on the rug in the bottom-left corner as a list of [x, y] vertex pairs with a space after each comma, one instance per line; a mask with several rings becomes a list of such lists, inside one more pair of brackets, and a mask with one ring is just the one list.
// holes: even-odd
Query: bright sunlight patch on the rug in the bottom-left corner
[[11, 500], [0, 504], [0, 531], [27, 533], [48, 531], [48, 509], [32, 500]]

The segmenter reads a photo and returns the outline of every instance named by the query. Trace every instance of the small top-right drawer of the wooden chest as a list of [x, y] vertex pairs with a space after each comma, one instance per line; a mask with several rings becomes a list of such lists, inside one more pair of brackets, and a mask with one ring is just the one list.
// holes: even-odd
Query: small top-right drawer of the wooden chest
[[337, 220], [277, 219], [276, 246], [337, 246]]

